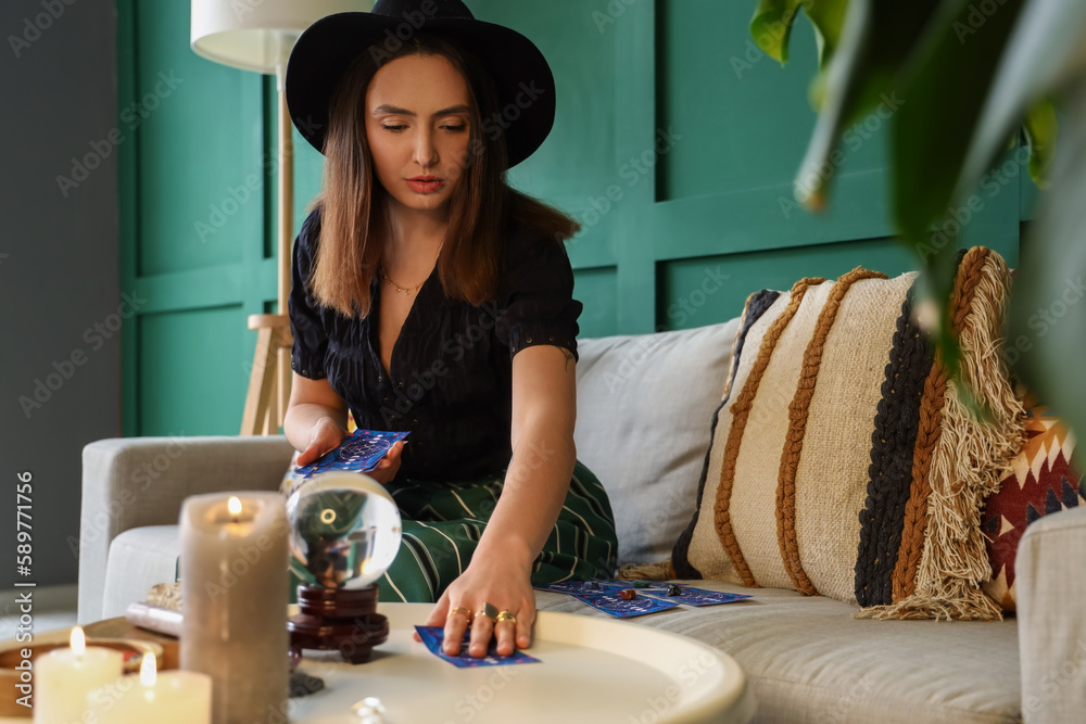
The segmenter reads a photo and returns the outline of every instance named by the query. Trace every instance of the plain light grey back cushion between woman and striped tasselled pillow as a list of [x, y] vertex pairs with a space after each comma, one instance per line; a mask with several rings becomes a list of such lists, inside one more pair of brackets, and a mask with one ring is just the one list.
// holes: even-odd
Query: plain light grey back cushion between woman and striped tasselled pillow
[[610, 498], [620, 564], [670, 558], [694, 515], [738, 322], [578, 340], [577, 457]]

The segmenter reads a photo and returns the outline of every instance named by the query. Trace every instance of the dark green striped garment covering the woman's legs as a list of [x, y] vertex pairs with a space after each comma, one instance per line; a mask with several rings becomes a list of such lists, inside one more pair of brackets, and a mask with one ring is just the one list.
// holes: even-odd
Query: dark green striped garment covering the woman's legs
[[[381, 601], [434, 602], [471, 560], [502, 495], [506, 471], [466, 481], [405, 480], [386, 486], [403, 539], [379, 581]], [[558, 520], [532, 568], [532, 585], [614, 577], [615, 517], [603, 485], [578, 460]], [[292, 569], [291, 598], [299, 583]]]

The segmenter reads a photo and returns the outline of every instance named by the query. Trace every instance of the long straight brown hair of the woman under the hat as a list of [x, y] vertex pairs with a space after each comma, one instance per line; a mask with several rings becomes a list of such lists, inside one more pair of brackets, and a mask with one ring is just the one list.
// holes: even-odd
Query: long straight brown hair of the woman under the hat
[[383, 65], [404, 55], [446, 58], [467, 81], [470, 98], [468, 154], [450, 200], [449, 229], [438, 258], [446, 296], [475, 306], [494, 299], [504, 238], [514, 227], [538, 229], [557, 244], [580, 228], [506, 182], [505, 136], [492, 132], [496, 125], [484, 132], [482, 124], [498, 111], [497, 92], [472, 54], [446, 38], [421, 33], [395, 53], [363, 53], [332, 97], [321, 191], [307, 209], [320, 209], [312, 293], [349, 317], [369, 314], [370, 283], [389, 240], [388, 192], [377, 180], [366, 137], [366, 91]]

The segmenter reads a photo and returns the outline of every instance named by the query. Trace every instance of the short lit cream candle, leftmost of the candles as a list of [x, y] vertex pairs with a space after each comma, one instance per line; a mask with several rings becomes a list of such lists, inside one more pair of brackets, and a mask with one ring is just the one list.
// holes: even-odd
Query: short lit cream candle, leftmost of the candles
[[124, 656], [116, 649], [87, 646], [83, 628], [72, 630], [70, 648], [34, 659], [34, 721], [70, 724], [83, 721], [87, 693], [119, 678]]

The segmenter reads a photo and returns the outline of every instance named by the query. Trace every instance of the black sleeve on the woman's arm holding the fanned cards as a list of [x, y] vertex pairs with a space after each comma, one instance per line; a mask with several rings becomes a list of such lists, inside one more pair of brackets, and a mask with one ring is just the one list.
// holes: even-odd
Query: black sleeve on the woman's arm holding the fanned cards
[[316, 256], [318, 234], [319, 221], [317, 212], [314, 211], [302, 224], [302, 229], [294, 240], [290, 265], [290, 295], [287, 299], [290, 333], [294, 336], [290, 366], [295, 372], [311, 380], [328, 377], [325, 372], [328, 336], [319, 306], [306, 290], [306, 281]]

